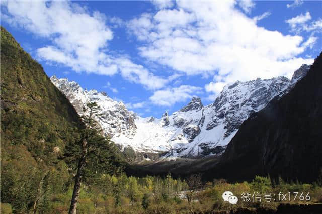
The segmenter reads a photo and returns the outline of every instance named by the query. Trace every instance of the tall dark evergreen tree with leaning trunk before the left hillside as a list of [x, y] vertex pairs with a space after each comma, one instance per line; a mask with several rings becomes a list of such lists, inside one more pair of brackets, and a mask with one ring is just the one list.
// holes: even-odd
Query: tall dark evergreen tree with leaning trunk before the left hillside
[[79, 192], [82, 182], [91, 183], [102, 173], [117, 172], [119, 168], [119, 158], [115, 155], [114, 145], [100, 133], [94, 117], [98, 115], [99, 106], [96, 102], [87, 104], [82, 116], [84, 127], [81, 129], [81, 139], [79, 141], [78, 165], [75, 175], [75, 183], [71, 198], [69, 213], [75, 214]]

